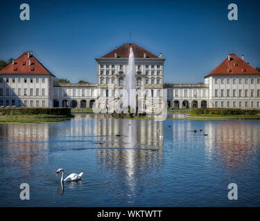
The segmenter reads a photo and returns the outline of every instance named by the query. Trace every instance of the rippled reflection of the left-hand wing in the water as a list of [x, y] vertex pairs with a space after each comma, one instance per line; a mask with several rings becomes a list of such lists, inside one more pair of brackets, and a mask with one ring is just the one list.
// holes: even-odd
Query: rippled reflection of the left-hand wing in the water
[[0, 135], [1, 148], [8, 153], [5, 159], [10, 164], [20, 162], [21, 171], [26, 172], [35, 162], [48, 160], [43, 152], [49, 151], [49, 124], [6, 124]]

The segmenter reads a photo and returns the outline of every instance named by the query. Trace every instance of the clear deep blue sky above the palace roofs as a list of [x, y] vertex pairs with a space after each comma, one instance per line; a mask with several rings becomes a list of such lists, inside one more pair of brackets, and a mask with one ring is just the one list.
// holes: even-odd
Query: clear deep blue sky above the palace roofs
[[[19, 19], [28, 3], [31, 20]], [[239, 20], [227, 19], [236, 3]], [[198, 83], [231, 52], [260, 66], [259, 1], [1, 1], [0, 59], [33, 50], [71, 82], [96, 82], [96, 61], [131, 42], [166, 57], [164, 82]]]

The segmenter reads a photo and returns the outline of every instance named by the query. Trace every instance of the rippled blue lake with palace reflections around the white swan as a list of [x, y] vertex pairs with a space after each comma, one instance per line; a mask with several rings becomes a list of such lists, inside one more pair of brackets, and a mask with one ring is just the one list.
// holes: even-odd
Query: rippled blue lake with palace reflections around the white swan
[[[59, 168], [83, 178], [62, 185]], [[94, 114], [0, 124], [0, 175], [0, 206], [260, 206], [260, 124]]]

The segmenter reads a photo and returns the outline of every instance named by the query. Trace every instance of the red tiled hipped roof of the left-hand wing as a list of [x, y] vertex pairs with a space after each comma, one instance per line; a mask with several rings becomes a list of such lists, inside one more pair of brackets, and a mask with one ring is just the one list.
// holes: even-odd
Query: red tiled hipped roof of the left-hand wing
[[[31, 52], [29, 53], [29, 58], [28, 51], [24, 52], [15, 59], [15, 64], [8, 64], [8, 66], [0, 70], [0, 75], [51, 75], [55, 77]], [[31, 65], [29, 65], [29, 60], [31, 60]]]

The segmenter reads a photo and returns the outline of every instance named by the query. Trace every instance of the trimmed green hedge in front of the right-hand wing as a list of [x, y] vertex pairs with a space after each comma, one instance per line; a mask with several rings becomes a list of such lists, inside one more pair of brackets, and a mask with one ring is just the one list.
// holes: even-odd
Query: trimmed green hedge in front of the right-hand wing
[[250, 109], [243, 110], [240, 108], [193, 108], [191, 114], [195, 115], [257, 115], [258, 110]]

